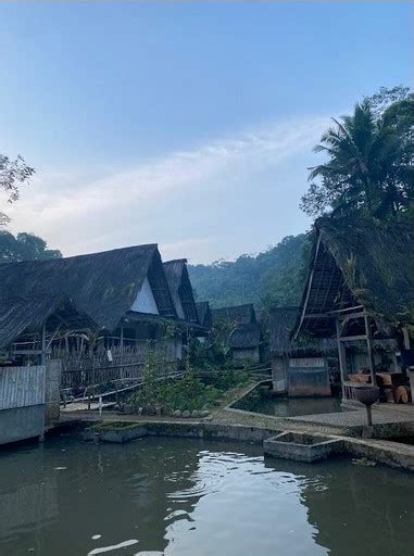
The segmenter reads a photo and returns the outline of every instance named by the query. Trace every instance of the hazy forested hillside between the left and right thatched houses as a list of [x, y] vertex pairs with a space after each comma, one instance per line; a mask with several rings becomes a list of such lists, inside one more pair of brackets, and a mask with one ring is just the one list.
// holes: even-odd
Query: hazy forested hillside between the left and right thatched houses
[[310, 240], [305, 233], [288, 236], [258, 255], [241, 255], [235, 262], [189, 265], [198, 300], [214, 307], [254, 303], [258, 308], [299, 303]]

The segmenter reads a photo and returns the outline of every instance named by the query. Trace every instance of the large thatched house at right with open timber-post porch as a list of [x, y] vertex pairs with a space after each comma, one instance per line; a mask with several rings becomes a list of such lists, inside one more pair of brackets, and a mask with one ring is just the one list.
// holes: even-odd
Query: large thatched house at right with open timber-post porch
[[355, 374], [376, 383], [377, 372], [387, 371], [391, 382], [406, 384], [414, 365], [413, 248], [410, 223], [356, 216], [315, 223], [296, 338], [336, 338], [343, 397], [352, 397]]

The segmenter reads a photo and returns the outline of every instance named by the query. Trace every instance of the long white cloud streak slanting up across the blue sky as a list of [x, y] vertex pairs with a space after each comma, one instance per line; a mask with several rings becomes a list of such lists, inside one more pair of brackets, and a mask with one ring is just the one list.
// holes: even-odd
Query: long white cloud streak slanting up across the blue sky
[[[326, 117], [312, 117], [262, 126], [95, 178], [92, 172], [78, 168], [45, 170], [8, 211], [10, 228], [34, 231], [67, 255], [160, 241], [165, 257], [197, 258], [202, 250], [199, 260], [205, 260], [205, 253], [215, 258], [212, 230], [187, 239], [177, 226], [173, 229], [167, 214], [160, 223], [160, 202], [165, 205], [181, 195], [183, 214], [175, 215], [179, 222], [188, 211], [189, 194], [224, 188], [223, 184], [235, 180], [248, 186], [266, 168], [277, 178], [277, 166], [309, 151], [326, 124]], [[195, 203], [191, 210], [197, 210]]]

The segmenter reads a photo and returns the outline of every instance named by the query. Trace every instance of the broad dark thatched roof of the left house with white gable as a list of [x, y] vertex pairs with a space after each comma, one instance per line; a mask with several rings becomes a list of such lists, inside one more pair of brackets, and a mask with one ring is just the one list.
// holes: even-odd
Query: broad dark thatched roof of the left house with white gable
[[[33, 326], [63, 300], [99, 328], [113, 330], [148, 278], [159, 312], [176, 317], [155, 244], [51, 261], [0, 264], [0, 338]], [[14, 333], [14, 332], [13, 332]]]

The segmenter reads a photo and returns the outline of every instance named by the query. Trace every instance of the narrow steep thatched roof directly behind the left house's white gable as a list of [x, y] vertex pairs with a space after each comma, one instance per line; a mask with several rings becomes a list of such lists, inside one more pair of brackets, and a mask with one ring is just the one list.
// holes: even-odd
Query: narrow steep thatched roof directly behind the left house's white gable
[[195, 295], [187, 270], [187, 260], [167, 261], [163, 266], [178, 317], [188, 323], [198, 324]]

